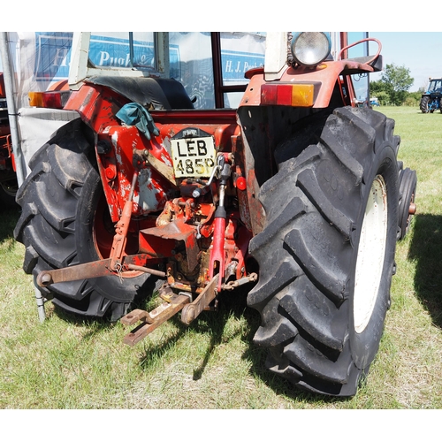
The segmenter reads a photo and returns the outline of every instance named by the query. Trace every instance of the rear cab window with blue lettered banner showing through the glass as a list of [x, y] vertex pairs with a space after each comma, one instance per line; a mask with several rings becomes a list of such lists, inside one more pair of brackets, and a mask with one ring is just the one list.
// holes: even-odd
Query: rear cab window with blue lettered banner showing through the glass
[[69, 87], [103, 76], [173, 79], [194, 109], [235, 108], [248, 83], [245, 73], [264, 65], [265, 42], [258, 32], [78, 33]]

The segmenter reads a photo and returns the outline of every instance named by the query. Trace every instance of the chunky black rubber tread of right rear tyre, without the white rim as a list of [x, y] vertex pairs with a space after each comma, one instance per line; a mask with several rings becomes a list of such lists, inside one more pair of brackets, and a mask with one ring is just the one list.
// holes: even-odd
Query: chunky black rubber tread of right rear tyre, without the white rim
[[277, 147], [278, 173], [261, 187], [266, 222], [250, 242], [260, 271], [248, 305], [261, 314], [254, 341], [268, 348], [269, 370], [302, 390], [351, 396], [368, 370], [349, 349], [354, 232], [373, 158], [387, 145], [397, 152], [400, 138], [392, 119], [349, 107], [309, 129], [315, 143], [301, 149], [311, 139], [294, 136], [292, 157], [289, 142]]

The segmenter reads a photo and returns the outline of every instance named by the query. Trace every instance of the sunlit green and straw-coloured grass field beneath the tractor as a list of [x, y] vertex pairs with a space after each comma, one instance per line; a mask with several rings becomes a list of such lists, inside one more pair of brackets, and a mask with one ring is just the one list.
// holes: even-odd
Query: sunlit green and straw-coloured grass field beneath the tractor
[[399, 157], [418, 175], [413, 230], [397, 248], [392, 308], [370, 376], [350, 400], [302, 394], [263, 369], [245, 296], [189, 327], [172, 319], [137, 347], [121, 324], [83, 321], [46, 304], [40, 324], [18, 210], [0, 220], [0, 408], [442, 408], [442, 114], [380, 108], [396, 120]]

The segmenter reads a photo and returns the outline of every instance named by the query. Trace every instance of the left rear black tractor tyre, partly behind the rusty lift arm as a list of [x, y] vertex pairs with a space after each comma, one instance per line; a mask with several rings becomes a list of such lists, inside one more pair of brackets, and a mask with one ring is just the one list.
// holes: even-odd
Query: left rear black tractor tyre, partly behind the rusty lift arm
[[[26, 247], [23, 269], [34, 278], [41, 271], [107, 257], [103, 250], [109, 250], [105, 243], [111, 244], [112, 233], [103, 232], [107, 205], [93, 165], [92, 143], [88, 128], [78, 119], [58, 131], [30, 161], [32, 171], [17, 194], [22, 213], [14, 235]], [[71, 313], [116, 321], [137, 295], [149, 293], [155, 284], [146, 274], [128, 276], [80, 279], [39, 289], [44, 298]]]

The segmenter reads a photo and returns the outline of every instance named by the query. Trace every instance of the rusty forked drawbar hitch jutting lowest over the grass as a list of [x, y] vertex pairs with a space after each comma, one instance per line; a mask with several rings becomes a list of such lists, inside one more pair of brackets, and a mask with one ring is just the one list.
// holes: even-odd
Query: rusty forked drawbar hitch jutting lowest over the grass
[[133, 331], [126, 334], [123, 342], [133, 347], [142, 339], [146, 338], [149, 333], [156, 330], [159, 325], [165, 323], [171, 316], [177, 314], [189, 301], [187, 295], [178, 294], [172, 296], [170, 302], [163, 302], [163, 304], [151, 312], [135, 309], [126, 316], [123, 316], [120, 322], [125, 325], [133, 325], [141, 321], [138, 327], [135, 327]]

